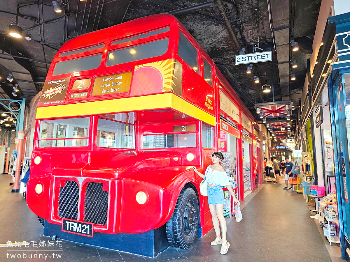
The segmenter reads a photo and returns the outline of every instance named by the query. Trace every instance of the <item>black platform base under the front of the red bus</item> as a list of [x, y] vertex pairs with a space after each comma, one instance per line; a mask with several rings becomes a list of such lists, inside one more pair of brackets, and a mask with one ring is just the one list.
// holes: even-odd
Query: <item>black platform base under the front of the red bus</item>
[[45, 219], [44, 236], [56, 235], [59, 239], [104, 247], [136, 255], [156, 257], [169, 247], [165, 225], [139, 234], [106, 234], [93, 232], [93, 238], [63, 232], [61, 225], [51, 224]]

